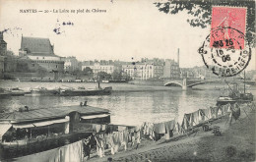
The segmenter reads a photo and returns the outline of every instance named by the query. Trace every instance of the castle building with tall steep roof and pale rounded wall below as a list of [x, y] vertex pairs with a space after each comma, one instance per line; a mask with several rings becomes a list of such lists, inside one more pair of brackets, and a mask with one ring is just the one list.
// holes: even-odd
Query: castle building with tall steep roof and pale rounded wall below
[[64, 60], [54, 54], [53, 45], [48, 38], [22, 37], [19, 50], [21, 60], [27, 61], [30, 71], [44, 69], [47, 72], [63, 72]]

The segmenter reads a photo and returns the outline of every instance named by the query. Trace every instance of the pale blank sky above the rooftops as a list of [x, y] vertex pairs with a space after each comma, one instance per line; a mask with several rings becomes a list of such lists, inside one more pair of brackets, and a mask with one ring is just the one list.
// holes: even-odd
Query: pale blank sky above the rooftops
[[[176, 60], [179, 48], [181, 67], [204, 65], [197, 50], [210, 33], [210, 27], [190, 27], [185, 12], [160, 13], [152, 0], [0, 2], [0, 30], [9, 28], [4, 38], [8, 49], [17, 55], [23, 34], [49, 38], [55, 54], [76, 56], [81, 61], [131, 61], [144, 57]], [[21, 13], [20, 10], [26, 9], [43, 12]], [[53, 13], [63, 9], [69, 13]], [[79, 9], [91, 13], [77, 14]], [[93, 9], [106, 12], [93, 13]], [[44, 13], [45, 10], [49, 12]], [[70, 13], [71, 10], [76, 13]], [[63, 26], [63, 23], [71, 25]], [[255, 61], [255, 57], [252, 59]], [[254, 65], [251, 62], [250, 68], [255, 68]]]

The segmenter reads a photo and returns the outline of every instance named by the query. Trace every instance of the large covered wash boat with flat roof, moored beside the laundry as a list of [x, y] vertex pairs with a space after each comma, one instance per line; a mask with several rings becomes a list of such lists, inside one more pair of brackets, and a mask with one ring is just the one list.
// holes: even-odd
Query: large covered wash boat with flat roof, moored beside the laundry
[[32, 110], [25, 106], [19, 111], [2, 113], [0, 161], [57, 148], [88, 137], [92, 135], [92, 130], [86, 127], [89, 123], [109, 124], [109, 110], [84, 104]]

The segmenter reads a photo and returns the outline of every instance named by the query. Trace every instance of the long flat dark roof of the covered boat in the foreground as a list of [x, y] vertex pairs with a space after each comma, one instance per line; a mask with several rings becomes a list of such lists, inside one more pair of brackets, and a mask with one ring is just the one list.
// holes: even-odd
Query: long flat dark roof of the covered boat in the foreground
[[10, 123], [22, 123], [22, 122], [34, 122], [42, 120], [50, 120], [57, 118], [64, 118], [72, 112], [78, 112], [79, 114], [96, 115], [96, 114], [109, 114], [109, 110], [92, 107], [92, 106], [62, 106], [54, 108], [40, 108], [30, 109], [29, 111], [14, 111], [10, 113], [0, 114], [1, 122]]

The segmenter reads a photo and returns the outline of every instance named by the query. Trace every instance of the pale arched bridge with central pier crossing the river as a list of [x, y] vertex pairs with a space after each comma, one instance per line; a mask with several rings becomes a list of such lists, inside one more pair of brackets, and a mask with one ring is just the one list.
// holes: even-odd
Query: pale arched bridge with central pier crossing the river
[[181, 86], [183, 90], [186, 90], [188, 87], [193, 87], [195, 85], [198, 84], [204, 84], [204, 83], [208, 83], [208, 82], [223, 82], [221, 80], [217, 80], [217, 81], [201, 81], [201, 80], [187, 80], [187, 79], [183, 79], [183, 80], [165, 80], [163, 81], [164, 86], [171, 86], [171, 85], [176, 85], [176, 86]]

